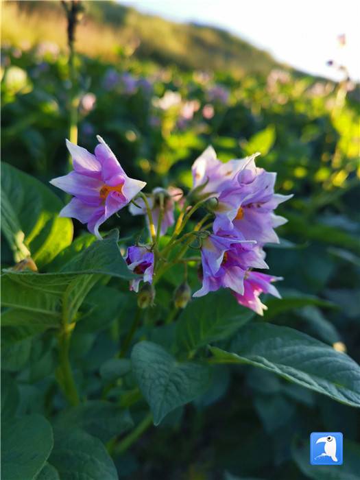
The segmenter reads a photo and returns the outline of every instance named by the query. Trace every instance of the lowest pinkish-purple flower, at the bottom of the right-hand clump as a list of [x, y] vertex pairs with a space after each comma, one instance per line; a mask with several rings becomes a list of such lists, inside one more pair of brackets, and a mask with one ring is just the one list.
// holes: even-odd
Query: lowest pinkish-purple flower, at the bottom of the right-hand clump
[[234, 296], [239, 304], [254, 310], [258, 315], [263, 315], [263, 311], [267, 310], [267, 307], [261, 303], [259, 298], [261, 293], [270, 293], [274, 297], [281, 298], [280, 293], [272, 285], [272, 282], [276, 282], [276, 280], [283, 280], [283, 278], [259, 272], [247, 272], [243, 283], [243, 294], [235, 292]]

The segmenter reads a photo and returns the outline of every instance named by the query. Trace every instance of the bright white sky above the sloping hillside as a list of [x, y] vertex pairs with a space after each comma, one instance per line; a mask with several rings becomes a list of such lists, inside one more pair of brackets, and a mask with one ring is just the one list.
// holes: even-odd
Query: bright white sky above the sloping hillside
[[[327, 60], [345, 64], [360, 81], [359, 0], [121, 0], [176, 22], [224, 28], [283, 63], [341, 80]], [[346, 35], [339, 47], [337, 36]]]

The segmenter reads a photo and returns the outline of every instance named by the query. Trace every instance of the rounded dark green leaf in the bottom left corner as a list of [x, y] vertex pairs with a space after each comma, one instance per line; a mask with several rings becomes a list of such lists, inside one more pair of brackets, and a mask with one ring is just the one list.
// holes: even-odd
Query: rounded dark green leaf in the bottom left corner
[[1, 438], [1, 477], [4, 480], [32, 480], [53, 448], [51, 425], [40, 415], [3, 419]]

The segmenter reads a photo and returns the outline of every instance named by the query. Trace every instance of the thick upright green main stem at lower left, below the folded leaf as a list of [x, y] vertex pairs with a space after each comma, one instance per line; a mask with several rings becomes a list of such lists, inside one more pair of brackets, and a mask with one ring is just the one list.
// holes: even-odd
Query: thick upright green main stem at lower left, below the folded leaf
[[80, 398], [77, 393], [73, 372], [69, 360], [71, 328], [64, 326], [59, 335], [59, 370], [62, 388], [71, 405], [79, 405]]

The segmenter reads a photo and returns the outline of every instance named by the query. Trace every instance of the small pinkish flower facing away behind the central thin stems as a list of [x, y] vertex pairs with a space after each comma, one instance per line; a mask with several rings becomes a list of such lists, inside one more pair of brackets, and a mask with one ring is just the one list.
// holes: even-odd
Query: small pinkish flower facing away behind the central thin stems
[[[156, 231], [158, 228], [158, 219], [160, 215], [160, 195], [163, 195], [164, 199], [164, 216], [163, 220], [161, 221], [160, 234], [165, 235], [167, 229], [173, 226], [175, 223], [173, 217], [174, 202], [179, 202], [183, 193], [181, 189], [175, 187], [169, 187], [167, 190], [157, 187], [152, 191], [152, 195], [147, 196], [147, 202], [149, 203], [149, 207], [152, 211], [152, 219], [154, 221]], [[136, 205], [139, 205], [139, 207], [135, 206], [134, 204], [129, 205], [130, 213], [132, 215], [145, 215], [145, 202], [142, 198], [136, 199]], [[146, 221], [148, 224], [149, 219], [147, 217]]]

